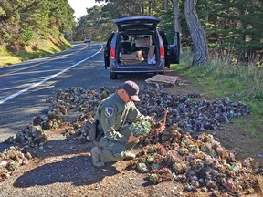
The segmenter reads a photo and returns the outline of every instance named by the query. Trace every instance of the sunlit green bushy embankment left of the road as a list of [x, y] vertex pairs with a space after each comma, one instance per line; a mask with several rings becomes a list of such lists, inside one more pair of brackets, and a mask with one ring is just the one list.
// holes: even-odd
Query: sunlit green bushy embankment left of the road
[[73, 13], [64, 0], [0, 1], [0, 67], [71, 47]]

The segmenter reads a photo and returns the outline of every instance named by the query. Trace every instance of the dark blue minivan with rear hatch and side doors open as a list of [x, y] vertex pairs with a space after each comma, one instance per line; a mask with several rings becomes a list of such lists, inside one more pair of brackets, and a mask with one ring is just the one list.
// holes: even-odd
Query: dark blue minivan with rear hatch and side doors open
[[124, 73], [164, 73], [170, 63], [178, 64], [180, 57], [179, 33], [177, 45], [169, 45], [161, 19], [152, 16], [129, 16], [114, 20], [118, 30], [112, 32], [104, 48], [105, 68], [110, 67], [110, 78]]

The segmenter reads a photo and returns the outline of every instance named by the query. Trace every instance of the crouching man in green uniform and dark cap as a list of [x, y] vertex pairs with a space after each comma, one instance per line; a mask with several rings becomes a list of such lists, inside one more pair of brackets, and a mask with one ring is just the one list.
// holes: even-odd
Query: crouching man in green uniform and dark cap
[[133, 81], [126, 81], [110, 97], [104, 99], [96, 112], [94, 121], [102, 137], [91, 150], [92, 163], [95, 167], [104, 166], [105, 162], [133, 159], [130, 152], [142, 136], [135, 137], [129, 126], [123, 126], [126, 119], [134, 121], [142, 114], [134, 105], [140, 101], [139, 87]]

